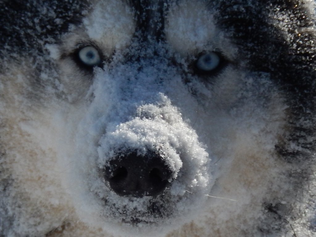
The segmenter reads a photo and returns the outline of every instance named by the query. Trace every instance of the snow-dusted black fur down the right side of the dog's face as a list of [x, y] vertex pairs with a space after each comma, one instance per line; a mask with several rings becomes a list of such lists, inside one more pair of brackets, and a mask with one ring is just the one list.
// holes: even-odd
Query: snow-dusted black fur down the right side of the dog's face
[[[213, 3], [210, 7], [214, 7]], [[286, 95], [289, 131], [284, 134], [283, 142], [276, 144], [276, 151], [293, 167], [301, 167], [299, 170], [293, 168], [288, 174], [294, 190], [290, 195], [299, 201], [306, 192], [301, 187], [308, 186], [309, 179], [314, 179], [308, 175], [314, 173], [309, 167], [315, 162], [316, 44], [315, 32], [308, 28], [314, 25], [313, 19], [302, 1], [234, 0], [221, 1], [216, 7], [220, 9], [217, 15], [219, 26], [231, 33], [232, 40], [240, 48], [240, 58], [246, 59], [249, 70], [269, 73]], [[289, 16], [285, 32], [277, 28], [282, 22], [274, 22], [271, 18], [274, 14]], [[284, 33], [291, 36], [290, 40], [285, 39]], [[293, 149], [291, 143], [303, 150]], [[311, 198], [315, 197], [312, 189], [309, 192]], [[289, 217], [291, 210], [284, 211], [281, 206], [267, 204], [267, 210], [276, 222], [289, 224], [293, 221]], [[315, 223], [309, 228], [315, 230]]]

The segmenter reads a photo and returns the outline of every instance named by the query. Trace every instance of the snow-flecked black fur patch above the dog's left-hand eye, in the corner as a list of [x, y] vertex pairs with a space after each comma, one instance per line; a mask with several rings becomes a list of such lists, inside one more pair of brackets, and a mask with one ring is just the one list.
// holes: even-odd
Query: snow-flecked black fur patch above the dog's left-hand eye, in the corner
[[[70, 24], [79, 24], [86, 1], [5, 0], [0, 2], [0, 58], [14, 53], [43, 53], [43, 46], [58, 40]], [[3, 55], [5, 54], [5, 55]]]

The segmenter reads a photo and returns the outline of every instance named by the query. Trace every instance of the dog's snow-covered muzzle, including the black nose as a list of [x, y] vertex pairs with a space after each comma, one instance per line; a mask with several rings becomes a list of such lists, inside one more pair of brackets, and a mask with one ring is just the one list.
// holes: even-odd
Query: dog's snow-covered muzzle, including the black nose
[[68, 155], [76, 167], [65, 179], [76, 192], [71, 196], [95, 200], [80, 201], [84, 216], [97, 210], [105, 222], [168, 223], [195, 212], [210, 190], [210, 151], [189, 120], [196, 108], [184, 117], [179, 95], [198, 101], [176, 69], [158, 60], [143, 61], [141, 69], [140, 63], [95, 69], [85, 105], [64, 119], [75, 147]]

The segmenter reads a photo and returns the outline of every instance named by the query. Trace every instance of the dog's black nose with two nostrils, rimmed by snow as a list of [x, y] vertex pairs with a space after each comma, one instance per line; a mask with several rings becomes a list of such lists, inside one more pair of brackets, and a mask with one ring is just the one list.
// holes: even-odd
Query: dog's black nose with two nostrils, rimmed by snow
[[104, 178], [120, 196], [157, 196], [170, 184], [172, 171], [161, 155], [147, 152], [118, 155], [104, 167]]

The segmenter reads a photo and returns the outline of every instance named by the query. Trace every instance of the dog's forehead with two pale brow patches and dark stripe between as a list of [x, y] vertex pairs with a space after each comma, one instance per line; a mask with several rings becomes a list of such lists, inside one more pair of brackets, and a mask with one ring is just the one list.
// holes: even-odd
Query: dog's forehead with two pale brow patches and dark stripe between
[[106, 50], [125, 47], [137, 36], [166, 40], [178, 52], [205, 49], [216, 34], [207, 1], [98, 1], [83, 19], [88, 40]]

